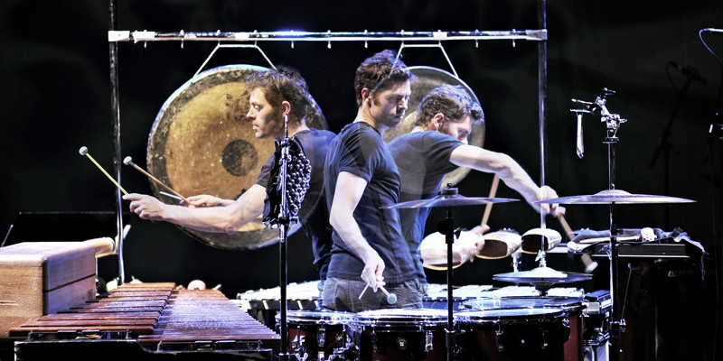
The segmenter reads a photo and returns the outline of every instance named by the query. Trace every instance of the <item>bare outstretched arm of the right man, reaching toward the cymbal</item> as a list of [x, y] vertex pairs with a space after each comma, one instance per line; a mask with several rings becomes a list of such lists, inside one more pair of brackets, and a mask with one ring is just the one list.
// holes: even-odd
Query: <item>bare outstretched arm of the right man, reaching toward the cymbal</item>
[[[550, 205], [537, 205], [534, 202], [558, 197], [555, 190], [548, 186], [540, 188], [518, 162], [515, 162], [512, 157], [504, 153], [488, 151], [474, 145], [460, 145], [450, 154], [449, 162], [476, 171], [497, 174], [504, 181], [504, 184], [520, 193], [532, 208], [545, 214], [550, 212]], [[564, 212], [564, 208], [557, 208], [558, 205], [552, 205], [551, 211], [556, 212], [559, 210]]]

